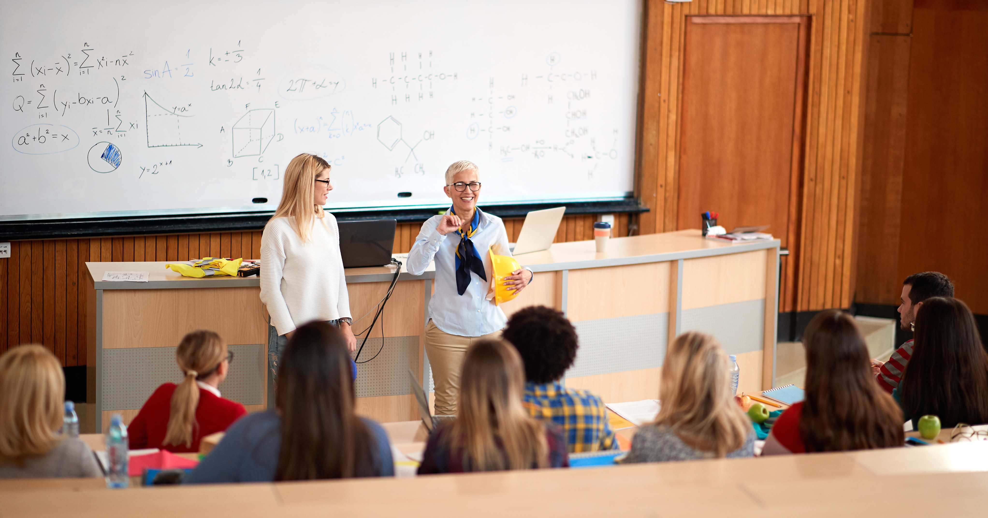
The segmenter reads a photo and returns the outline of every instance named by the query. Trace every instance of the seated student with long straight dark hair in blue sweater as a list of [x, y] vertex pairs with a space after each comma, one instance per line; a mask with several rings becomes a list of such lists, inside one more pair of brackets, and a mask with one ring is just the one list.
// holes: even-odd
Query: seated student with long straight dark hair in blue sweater
[[240, 419], [188, 483], [392, 476], [384, 430], [354, 413], [343, 333], [326, 322], [298, 327], [282, 350], [276, 409]]

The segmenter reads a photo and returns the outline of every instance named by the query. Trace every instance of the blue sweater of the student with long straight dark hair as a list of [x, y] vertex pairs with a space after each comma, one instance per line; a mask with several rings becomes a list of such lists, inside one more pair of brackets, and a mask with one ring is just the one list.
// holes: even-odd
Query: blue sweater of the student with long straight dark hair
[[[362, 417], [371, 431], [374, 475], [393, 476], [391, 443], [379, 424]], [[275, 479], [282, 450], [282, 419], [274, 410], [248, 414], [233, 423], [223, 440], [185, 483], [263, 482]]]

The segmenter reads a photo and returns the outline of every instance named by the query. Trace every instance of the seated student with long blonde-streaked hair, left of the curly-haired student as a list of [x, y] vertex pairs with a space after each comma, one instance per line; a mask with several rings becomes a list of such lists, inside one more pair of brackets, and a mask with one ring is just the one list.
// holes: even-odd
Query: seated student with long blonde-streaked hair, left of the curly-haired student
[[522, 407], [524, 385], [514, 347], [474, 342], [463, 360], [458, 413], [429, 436], [419, 475], [568, 467], [562, 432]]

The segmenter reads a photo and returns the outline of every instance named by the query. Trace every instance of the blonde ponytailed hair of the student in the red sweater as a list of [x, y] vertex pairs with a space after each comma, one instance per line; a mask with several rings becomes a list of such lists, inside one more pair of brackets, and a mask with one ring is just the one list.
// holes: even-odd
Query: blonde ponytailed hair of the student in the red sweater
[[175, 356], [185, 378], [172, 393], [172, 409], [163, 444], [184, 444], [186, 448], [191, 448], [196, 408], [199, 407], [196, 381], [200, 373], [207, 377], [219, 367], [226, 358], [226, 344], [212, 331], [193, 331], [182, 338]]

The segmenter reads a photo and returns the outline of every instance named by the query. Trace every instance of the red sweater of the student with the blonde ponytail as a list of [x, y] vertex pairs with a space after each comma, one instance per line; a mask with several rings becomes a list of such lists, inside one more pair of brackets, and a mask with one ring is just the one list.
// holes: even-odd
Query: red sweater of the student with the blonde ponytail
[[130, 421], [127, 433], [130, 436], [130, 449], [159, 448], [172, 453], [195, 453], [199, 451], [199, 441], [206, 435], [226, 431], [241, 416], [247, 414], [244, 405], [218, 397], [216, 394], [199, 388], [199, 406], [196, 407], [196, 424], [192, 428], [192, 446], [163, 445], [168, 432], [168, 418], [172, 413], [172, 393], [175, 384], [164, 384], [154, 390], [140, 407], [137, 416]]

